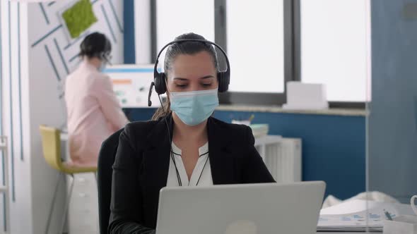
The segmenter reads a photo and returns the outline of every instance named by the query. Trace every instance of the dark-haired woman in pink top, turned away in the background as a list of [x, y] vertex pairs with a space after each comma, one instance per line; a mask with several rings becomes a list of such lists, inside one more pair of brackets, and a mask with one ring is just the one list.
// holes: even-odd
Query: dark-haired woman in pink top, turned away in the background
[[66, 78], [69, 152], [74, 166], [97, 166], [103, 140], [129, 122], [110, 78], [100, 72], [111, 49], [105, 35], [88, 35], [81, 43], [83, 62]]

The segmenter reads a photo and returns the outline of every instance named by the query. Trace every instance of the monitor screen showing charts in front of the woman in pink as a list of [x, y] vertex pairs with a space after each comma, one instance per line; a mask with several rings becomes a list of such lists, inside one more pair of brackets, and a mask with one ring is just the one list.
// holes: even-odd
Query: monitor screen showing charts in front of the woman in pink
[[[148, 93], [153, 81], [153, 64], [122, 64], [107, 66], [103, 73], [110, 76], [113, 90], [122, 108], [148, 107]], [[165, 99], [165, 94], [161, 95]], [[158, 95], [153, 89], [152, 106], [160, 106]]]

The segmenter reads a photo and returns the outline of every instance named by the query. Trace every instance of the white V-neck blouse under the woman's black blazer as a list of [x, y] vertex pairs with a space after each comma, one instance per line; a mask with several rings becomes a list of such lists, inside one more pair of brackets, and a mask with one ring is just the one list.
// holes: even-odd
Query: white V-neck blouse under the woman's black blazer
[[[209, 159], [209, 142], [199, 148], [199, 160], [196, 163], [192, 176], [188, 180], [187, 172], [181, 158], [181, 149], [179, 149], [174, 142], [172, 142], [172, 153], [177, 164], [177, 170], [180, 174], [182, 186], [209, 186], [213, 185], [213, 178], [211, 177], [211, 167]], [[167, 187], [180, 186], [177, 178], [177, 171], [170, 156], [170, 168], [168, 171]]]

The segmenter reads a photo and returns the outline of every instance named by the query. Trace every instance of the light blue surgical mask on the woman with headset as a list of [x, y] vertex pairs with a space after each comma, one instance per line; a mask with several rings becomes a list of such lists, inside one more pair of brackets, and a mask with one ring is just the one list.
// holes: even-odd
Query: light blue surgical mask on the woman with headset
[[191, 92], [171, 92], [171, 110], [187, 125], [202, 123], [218, 106], [217, 89]]

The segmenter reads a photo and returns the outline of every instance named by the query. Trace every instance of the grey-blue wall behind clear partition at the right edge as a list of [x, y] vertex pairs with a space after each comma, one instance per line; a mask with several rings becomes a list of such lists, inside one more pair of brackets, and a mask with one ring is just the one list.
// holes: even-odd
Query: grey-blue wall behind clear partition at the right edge
[[370, 190], [417, 194], [417, 12], [412, 0], [372, 0]]

